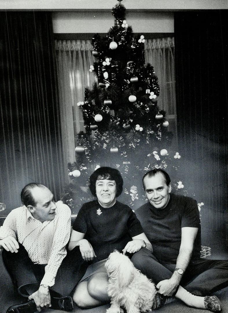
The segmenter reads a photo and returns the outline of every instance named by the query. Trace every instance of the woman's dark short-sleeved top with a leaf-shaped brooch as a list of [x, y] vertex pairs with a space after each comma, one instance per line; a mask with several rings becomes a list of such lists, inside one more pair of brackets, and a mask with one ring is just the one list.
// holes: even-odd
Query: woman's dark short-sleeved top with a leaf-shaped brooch
[[97, 200], [83, 204], [73, 224], [73, 229], [84, 233], [97, 258], [106, 259], [114, 249], [122, 251], [132, 237], [143, 233], [135, 213], [118, 201], [111, 208], [103, 208]]

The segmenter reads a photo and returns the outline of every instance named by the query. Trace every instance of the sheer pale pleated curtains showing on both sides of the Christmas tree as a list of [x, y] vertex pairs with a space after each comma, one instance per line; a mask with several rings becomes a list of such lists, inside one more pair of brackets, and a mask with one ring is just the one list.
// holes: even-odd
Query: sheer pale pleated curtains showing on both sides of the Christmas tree
[[[56, 60], [60, 100], [62, 146], [65, 163], [75, 160], [77, 133], [83, 131], [82, 109], [86, 87], [96, 77], [89, 72], [95, 61], [89, 40], [56, 40]], [[145, 42], [146, 64], [154, 66], [161, 88], [158, 105], [166, 110], [170, 131], [176, 134], [176, 96], [174, 72], [174, 38], [148, 39]]]

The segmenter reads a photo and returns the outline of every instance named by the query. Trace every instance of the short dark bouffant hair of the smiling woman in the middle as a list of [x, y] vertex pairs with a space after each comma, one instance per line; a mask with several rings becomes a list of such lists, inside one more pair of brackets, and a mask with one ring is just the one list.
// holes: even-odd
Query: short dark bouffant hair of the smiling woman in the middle
[[118, 197], [123, 191], [123, 178], [121, 176], [120, 171], [118, 171], [116, 168], [103, 166], [99, 167], [89, 177], [90, 182], [89, 188], [93, 196], [95, 197], [97, 196], [96, 181], [100, 179], [110, 179], [116, 182], [116, 197]]

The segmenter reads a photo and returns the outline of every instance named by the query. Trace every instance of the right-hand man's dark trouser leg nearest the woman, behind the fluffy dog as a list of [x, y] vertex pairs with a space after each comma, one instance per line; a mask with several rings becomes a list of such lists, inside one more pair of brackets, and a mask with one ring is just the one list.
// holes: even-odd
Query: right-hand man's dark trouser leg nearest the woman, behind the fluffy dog
[[158, 284], [161, 280], [170, 279], [172, 272], [166, 269], [156, 257], [148, 249], [141, 248], [136, 252], [131, 262], [135, 265], [136, 269], [141, 270], [142, 274], [146, 275], [149, 279], [152, 279], [155, 284]]

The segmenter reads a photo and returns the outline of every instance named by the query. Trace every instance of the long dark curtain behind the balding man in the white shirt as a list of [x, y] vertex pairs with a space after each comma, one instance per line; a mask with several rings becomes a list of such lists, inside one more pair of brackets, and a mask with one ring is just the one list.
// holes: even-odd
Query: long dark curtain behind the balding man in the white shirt
[[[0, 202], [40, 182], [56, 198], [63, 185], [51, 13], [0, 12]], [[59, 199], [57, 199], [59, 200]], [[0, 213], [1, 214], [1, 213]]]

